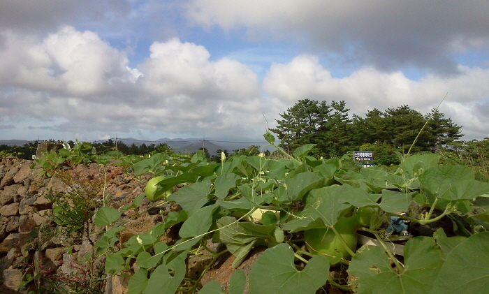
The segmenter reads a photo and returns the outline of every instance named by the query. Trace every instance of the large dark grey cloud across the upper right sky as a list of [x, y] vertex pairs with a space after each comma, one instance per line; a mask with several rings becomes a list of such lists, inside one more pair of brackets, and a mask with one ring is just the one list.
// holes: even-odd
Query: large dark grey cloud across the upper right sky
[[454, 54], [489, 43], [489, 3], [481, 1], [193, 0], [185, 7], [189, 22], [205, 29], [301, 39], [321, 54], [383, 70], [458, 73]]

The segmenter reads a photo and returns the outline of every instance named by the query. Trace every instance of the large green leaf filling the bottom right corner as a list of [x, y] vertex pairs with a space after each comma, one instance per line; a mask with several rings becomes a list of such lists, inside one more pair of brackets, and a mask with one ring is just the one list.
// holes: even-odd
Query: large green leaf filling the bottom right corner
[[453, 248], [431, 294], [479, 294], [489, 289], [489, 232], [472, 235]]

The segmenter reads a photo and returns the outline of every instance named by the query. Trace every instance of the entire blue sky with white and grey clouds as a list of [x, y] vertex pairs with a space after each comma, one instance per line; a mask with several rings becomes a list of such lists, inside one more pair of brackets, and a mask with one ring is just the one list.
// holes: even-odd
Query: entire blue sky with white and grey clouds
[[489, 137], [489, 1], [1, 0], [0, 140], [263, 140], [300, 99]]

